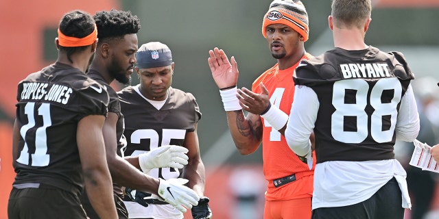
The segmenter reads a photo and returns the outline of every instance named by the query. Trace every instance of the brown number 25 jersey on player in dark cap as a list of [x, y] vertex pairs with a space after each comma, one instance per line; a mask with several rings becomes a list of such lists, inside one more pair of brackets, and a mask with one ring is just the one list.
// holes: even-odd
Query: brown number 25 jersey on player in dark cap
[[[165, 105], [157, 110], [133, 86], [118, 92], [125, 116], [126, 155], [139, 155], [168, 144], [182, 146], [187, 132], [195, 130], [201, 113], [191, 93], [169, 88]], [[158, 168], [152, 177], [177, 178], [179, 170]]]

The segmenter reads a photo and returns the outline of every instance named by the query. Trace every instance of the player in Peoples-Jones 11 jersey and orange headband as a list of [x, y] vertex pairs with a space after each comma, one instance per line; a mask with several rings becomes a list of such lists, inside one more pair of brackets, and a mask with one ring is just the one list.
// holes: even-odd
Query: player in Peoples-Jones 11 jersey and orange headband
[[56, 47], [56, 62], [18, 86], [8, 218], [85, 219], [84, 185], [99, 217], [116, 218], [102, 136], [108, 93], [85, 74], [97, 48], [92, 16], [65, 14]]

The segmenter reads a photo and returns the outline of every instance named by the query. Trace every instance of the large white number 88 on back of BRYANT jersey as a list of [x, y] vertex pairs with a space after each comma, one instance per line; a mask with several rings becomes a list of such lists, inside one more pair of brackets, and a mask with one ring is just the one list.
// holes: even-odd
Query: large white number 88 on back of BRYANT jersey
[[[355, 91], [355, 103], [345, 103], [346, 90]], [[368, 92], [370, 90], [370, 96]], [[393, 91], [390, 103], [381, 103], [381, 96], [385, 90]], [[339, 142], [360, 143], [370, 136], [378, 142], [390, 142], [396, 125], [398, 112], [397, 105], [401, 101], [401, 83], [396, 77], [379, 79], [370, 87], [364, 79], [349, 79], [336, 81], [333, 86], [332, 103], [335, 112], [331, 116], [331, 134]], [[368, 115], [365, 111], [367, 103], [375, 109]], [[356, 119], [357, 131], [344, 131], [344, 116]], [[369, 119], [370, 116], [370, 119]], [[390, 116], [390, 129], [383, 130], [383, 116]], [[370, 125], [368, 121], [370, 120]]]

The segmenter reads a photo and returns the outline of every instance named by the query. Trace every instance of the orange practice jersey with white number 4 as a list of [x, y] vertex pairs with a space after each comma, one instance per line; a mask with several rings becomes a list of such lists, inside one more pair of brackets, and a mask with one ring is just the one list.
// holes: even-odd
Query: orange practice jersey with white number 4
[[[312, 57], [306, 53], [302, 59]], [[263, 83], [270, 93], [270, 102], [276, 105], [286, 114], [289, 114], [294, 98], [294, 70], [300, 62], [294, 66], [279, 70], [278, 64], [268, 69], [259, 76], [252, 84], [252, 91], [261, 93], [259, 83]], [[293, 118], [294, 119], [294, 118]], [[313, 193], [313, 172], [316, 166], [316, 157], [313, 159], [313, 170], [300, 161], [297, 155], [289, 149], [285, 136], [273, 129], [263, 118], [263, 172], [268, 181], [268, 189], [265, 194], [267, 200], [290, 200], [294, 198], [311, 197]], [[279, 179], [296, 174], [296, 181], [275, 188], [274, 179]]]

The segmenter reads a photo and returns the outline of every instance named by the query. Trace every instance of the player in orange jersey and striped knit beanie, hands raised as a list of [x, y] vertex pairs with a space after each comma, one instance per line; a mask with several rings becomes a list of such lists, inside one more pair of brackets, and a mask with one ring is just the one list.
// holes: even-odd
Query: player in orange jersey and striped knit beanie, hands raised
[[308, 15], [300, 1], [272, 1], [262, 34], [277, 63], [253, 82], [251, 91], [237, 89], [235, 57], [229, 61], [222, 49], [209, 51], [209, 66], [239, 153], [254, 153], [263, 144], [268, 181], [264, 219], [311, 218], [313, 159], [294, 154], [283, 136], [294, 97], [294, 69], [300, 60], [312, 57], [304, 45], [308, 33]]

